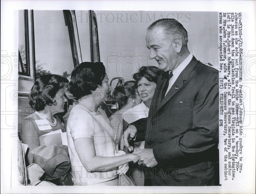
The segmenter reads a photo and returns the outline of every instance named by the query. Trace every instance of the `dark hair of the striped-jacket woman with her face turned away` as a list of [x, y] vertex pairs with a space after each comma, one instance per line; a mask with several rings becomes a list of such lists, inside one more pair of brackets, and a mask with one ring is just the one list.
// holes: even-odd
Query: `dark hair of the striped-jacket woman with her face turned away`
[[137, 88], [138, 86], [136, 81], [127, 81], [121, 86], [115, 88], [111, 98], [115, 99], [119, 105], [119, 109], [121, 109], [127, 104], [129, 97], [135, 98]]

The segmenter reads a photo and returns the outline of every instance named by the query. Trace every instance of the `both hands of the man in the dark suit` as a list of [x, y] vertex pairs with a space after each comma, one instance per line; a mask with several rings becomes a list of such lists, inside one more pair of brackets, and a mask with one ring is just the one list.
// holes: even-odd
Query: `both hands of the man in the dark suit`
[[[133, 147], [129, 145], [128, 141], [135, 137], [137, 133], [137, 129], [133, 125], [129, 125], [129, 127], [125, 130], [124, 137], [124, 145], [129, 149], [129, 151], [133, 151]], [[133, 162], [138, 162], [139, 165], [143, 164], [147, 167], [154, 167], [157, 165], [157, 161], [154, 157], [153, 149], [144, 148], [140, 150], [134, 150], [134, 155], [136, 155], [133, 159]]]

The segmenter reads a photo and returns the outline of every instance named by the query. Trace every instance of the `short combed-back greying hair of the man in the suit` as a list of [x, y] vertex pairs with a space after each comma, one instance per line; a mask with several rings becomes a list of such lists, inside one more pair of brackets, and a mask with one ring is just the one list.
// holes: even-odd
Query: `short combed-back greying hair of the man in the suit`
[[188, 43], [188, 32], [187, 30], [183, 27], [181, 23], [179, 23], [175, 19], [169, 19], [169, 18], [164, 18], [164, 19], [159, 19], [153, 22], [147, 30], [150, 31], [154, 29], [155, 27], [162, 27], [165, 34], [166, 38], [170, 40], [170, 38], [173, 38], [175, 36], [179, 36], [182, 38], [182, 44], [183, 46], [187, 46]]

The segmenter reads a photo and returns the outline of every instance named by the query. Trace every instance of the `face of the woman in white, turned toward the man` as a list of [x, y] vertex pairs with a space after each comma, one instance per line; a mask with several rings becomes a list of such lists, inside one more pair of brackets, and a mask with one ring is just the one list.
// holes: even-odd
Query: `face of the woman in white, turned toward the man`
[[100, 102], [104, 102], [105, 100], [108, 100], [107, 93], [109, 92], [111, 86], [109, 85], [109, 78], [106, 74], [104, 79], [102, 80], [102, 85], [98, 86], [98, 88], [95, 91], [92, 91], [92, 98], [95, 100], [99, 100]]

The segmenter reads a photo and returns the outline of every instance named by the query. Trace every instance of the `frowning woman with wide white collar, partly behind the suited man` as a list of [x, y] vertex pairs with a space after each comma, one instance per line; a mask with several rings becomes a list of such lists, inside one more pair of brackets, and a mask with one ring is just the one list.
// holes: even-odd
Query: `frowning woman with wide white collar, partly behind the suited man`
[[[133, 79], [138, 82], [138, 94], [140, 95], [142, 102], [123, 113], [124, 122], [130, 124], [139, 119], [148, 117], [150, 104], [156, 89], [157, 79], [162, 73], [164, 73], [164, 71], [158, 67], [143, 66], [137, 73], [133, 74]], [[135, 142], [134, 151], [143, 149], [144, 144], [145, 141]], [[137, 186], [144, 186], [144, 172], [142, 168], [142, 165], [133, 165], [132, 176], [134, 177], [134, 182]]]

